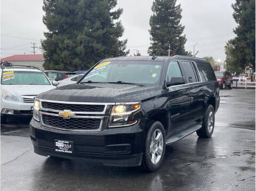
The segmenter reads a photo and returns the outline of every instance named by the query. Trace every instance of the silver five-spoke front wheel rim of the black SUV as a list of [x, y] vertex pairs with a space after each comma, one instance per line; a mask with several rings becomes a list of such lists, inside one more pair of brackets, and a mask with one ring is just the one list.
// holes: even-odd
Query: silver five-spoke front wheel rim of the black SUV
[[150, 143], [150, 159], [153, 164], [157, 164], [163, 154], [164, 139], [160, 129], [156, 129], [153, 132]]

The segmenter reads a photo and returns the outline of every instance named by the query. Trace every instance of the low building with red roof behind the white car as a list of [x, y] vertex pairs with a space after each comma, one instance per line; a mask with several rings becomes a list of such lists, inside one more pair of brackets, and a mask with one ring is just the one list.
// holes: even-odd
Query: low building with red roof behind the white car
[[13, 65], [31, 65], [33, 67], [38, 67], [41, 70], [44, 70], [43, 54], [21, 54], [21, 55], [13, 55], [8, 57], [3, 57], [1, 62], [10, 62]]

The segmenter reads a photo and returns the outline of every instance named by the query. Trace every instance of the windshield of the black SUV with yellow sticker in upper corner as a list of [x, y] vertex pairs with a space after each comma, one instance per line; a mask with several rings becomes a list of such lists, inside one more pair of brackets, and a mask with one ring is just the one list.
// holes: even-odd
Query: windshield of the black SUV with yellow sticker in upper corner
[[101, 62], [83, 78], [84, 82], [119, 82], [153, 85], [159, 82], [162, 62], [111, 61]]

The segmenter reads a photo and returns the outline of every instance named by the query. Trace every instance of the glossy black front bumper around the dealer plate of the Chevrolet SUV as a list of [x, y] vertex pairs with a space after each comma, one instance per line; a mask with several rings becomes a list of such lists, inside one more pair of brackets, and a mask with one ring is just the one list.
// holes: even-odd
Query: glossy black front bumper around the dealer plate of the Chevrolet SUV
[[[141, 164], [145, 145], [145, 123], [146, 119], [123, 128], [109, 128], [98, 132], [66, 132], [44, 128], [41, 123], [32, 119], [29, 131], [34, 152], [39, 155], [133, 167]], [[55, 139], [73, 141], [73, 153], [55, 152]]]

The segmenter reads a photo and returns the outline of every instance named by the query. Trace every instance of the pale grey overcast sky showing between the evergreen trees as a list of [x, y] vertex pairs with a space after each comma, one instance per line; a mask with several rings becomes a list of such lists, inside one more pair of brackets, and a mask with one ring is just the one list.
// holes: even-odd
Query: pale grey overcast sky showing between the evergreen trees
[[[125, 28], [123, 38], [128, 39], [127, 48], [131, 53], [138, 49], [147, 55], [149, 40], [149, 18], [153, 0], [118, 0], [117, 7], [124, 12], [121, 21]], [[235, 35], [236, 23], [232, 17], [231, 3], [235, 0], [178, 0], [182, 7], [182, 24], [187, 37], [186, 50], [197, 57], [213, 56], [225, 61], [224, 46]], [[42, 22], [43, 1], [1, 0], [1, 57], [13, 54], [31, 54], [33, 41], [40, 45], [46, 27]], [[18, 38], [19, 37], [19, 38]], [[38, 54], [41, 53], [36, 48]]]

